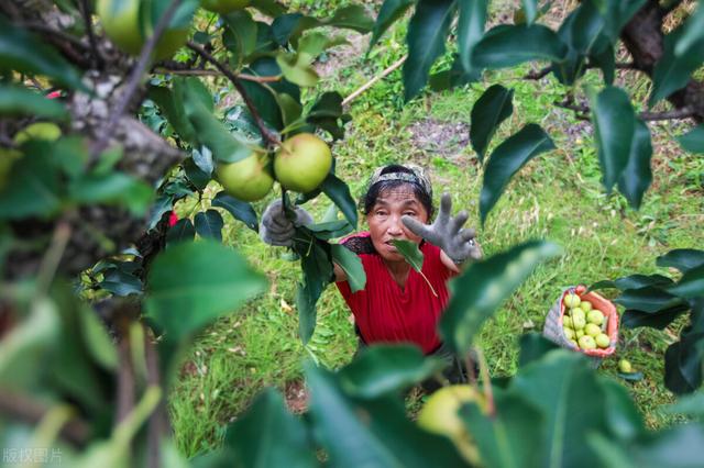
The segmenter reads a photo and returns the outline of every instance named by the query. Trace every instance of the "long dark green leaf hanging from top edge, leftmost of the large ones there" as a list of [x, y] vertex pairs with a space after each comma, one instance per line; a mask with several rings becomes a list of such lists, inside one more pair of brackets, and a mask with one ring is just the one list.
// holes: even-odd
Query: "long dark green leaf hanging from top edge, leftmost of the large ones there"
[[452, 0], [418, 0], [406, 34], [408, 58], [403, 70], [406, 101], [426, 86], [430, 67], [444, 53], [454, 9]]

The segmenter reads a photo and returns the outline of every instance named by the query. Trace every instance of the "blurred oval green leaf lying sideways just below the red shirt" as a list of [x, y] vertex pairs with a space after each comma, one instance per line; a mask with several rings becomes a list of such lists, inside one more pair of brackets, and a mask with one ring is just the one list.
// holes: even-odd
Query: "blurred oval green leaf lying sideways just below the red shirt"
[[426, 357], [413, 345], [364, 348], [339, 372], [340, 386], [351, 395], [374, 399], [394, 394], [440, 372], [446, 363]]

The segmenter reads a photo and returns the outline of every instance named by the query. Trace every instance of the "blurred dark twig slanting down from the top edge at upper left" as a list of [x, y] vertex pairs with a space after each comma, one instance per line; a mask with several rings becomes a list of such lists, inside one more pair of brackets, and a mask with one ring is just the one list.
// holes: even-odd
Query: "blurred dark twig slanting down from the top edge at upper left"
[[108, 147], [110, 137], [112, 136], [112, 134], [118, 127], [118, 122], [122, 118], [122, 114], [124, 113], [128, 104], [132, 100], [132, 97], [134, 96], [138, 87], [140, 86], [140, 81], [142, 81], [142, 75], [144, 75], [144, 71], [146, 71], [146, 67], [152, 58], [152, 52], [154, 51], [154, 47], [156, 47], [156, 43], [158, 42], [164, 31], [166, 31], [166, 26], [172, 21], [172, 18], [174, 16], [176, 9], [180, 4], [180, 1], [182, 0], [172, 0], [170, 4], [168, 5], [168, 9], [164, 13], [164, 15], [162, 15], [162, 18], [158, 20], [158, 23], [156, 23], [156, 27], [154, 29], [154, 34], [150, 36], [150, 38], [146, 41], [146, 44], [144, 44], [144, 47], [142, 47], [142, 52], [140, 53], [140, 58], [136, 63], [136, 66], [132, 70], [132, 74], [130, 75], [124, 93], [118, 101], [118, 104], [112, 110], [112, 113], [110, 114], [110, 118], [108, 119], [108, 122], [103, 127], [102, 135], [98, 138], [95, 146], [92, 147], [92, 151], [91, 151], [92, 160], [95, 160], [96, 156], [102, 153]]

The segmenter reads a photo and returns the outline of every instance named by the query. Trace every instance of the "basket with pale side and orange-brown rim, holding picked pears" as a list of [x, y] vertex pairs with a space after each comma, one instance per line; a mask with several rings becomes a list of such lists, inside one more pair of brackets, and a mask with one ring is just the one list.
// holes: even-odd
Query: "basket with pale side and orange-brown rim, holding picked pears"
[[[608, 335], [608, 339], [610, 342], [607, 348], [580, 349], [570, 343], [566, 336], [564, 336], [564, 332], [562, 331], [562, 317], [565, 312], [564, 297], [571, 292], [578, 294], [581, 300], [591, 302], [594, 309], [605, 315], [607, 322], [604, 333]], [[570, 287], [562, 291], [554, 305], [552, 305], [552, 309], [550, 309], [550, 312], [548, 312], [542, 334], [546, 338], [562, 347], [585, 354], [588, 357], [594, 358], [596, 361], [601, 361], [601, 359], [606, 356], [610, 356], [616, 350], [616, 342], [618, 341], [618, 313], [616, 312], [616, 307], [609, 300], [604, 299], [596, 292], [586, 292], [586, 287], [584, 285]]]

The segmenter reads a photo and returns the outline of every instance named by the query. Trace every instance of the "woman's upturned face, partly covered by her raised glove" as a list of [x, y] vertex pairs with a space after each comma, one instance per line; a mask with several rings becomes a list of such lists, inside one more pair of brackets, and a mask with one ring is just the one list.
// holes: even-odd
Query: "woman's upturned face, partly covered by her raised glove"
[[421, 241], [421, 237], [406, 229], [400, 221], [403, 215], [416, 218], [422, 223], [428, 222], [428, 211], [408, 185], [382, 191], [366, 215], [372, 244], [387, 261], [405, 261], [392, 241], [411, 241], [416, 244]]

